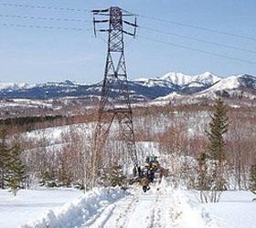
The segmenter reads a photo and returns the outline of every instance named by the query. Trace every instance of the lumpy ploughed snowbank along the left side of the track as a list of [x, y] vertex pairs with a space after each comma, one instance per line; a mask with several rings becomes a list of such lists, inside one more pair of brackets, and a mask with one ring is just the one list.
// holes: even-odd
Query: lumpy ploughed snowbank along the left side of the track
[[82, 225], [85, 221], [95, 220], [99, 212], [107, 205], [125, 196], [123, 190], [95, 189], [88, 192], [79, 200], [64, 206], [59, 212], [48, 211], [35, 222], [27, 223], [23, 228], [73, 228]]

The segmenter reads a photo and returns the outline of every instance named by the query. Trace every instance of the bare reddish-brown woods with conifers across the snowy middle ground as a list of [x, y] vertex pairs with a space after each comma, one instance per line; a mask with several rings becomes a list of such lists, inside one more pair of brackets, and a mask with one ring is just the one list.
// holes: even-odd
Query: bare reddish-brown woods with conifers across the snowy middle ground
[[[138, 143], [157, 143], [161, 155], [168, 161], [165, 168], [170, 170], [169, 178], [178, 183], [185, 181], [187, 188], [199, 190], [202, 201], [217, 202], [220, 191], [232, 188], [230, 177], [235, 178], [239, 189], [255, 190], [256, 162], [252, 157], [250, 162], [247, 161], [253, 155], [254, 149], [250, 146], [254, 143], [251, 139], [255, 138], [251, 133], [251, 136], [244, 137], [245, 133], [249, 134], [247, 131], [255, 132], [255, 118], [251, 110], [240, 114], [240, 111], [229, 109], [223, 100], [218, 99], [210, 111], [200, 108], [198, 112], [197, 109], [180, 107], [178, 110], [166, 108], [161, 112], [158, 108], [147, 108], [144, 111], [140, 109], [134, 116]], [[83, 118], [79, 121], [86, 122]], [[91, 131], [94, 129], [91, 119], [85, 125], [69, 125], [69, 130], [61, 133], [59, 145], [54, 146], [49, 143], [47, 133], [36, 140], [25, 136], [17, 143], [6, 139], [3, 131], [1, 148], [5, 150], [1, 152], [0, 167], [1, 173], [5, 173], [2, 179], [5, 184], [1, 188], [12, 188], [7, 177], [12, 176], [14, 180], [18, 171], [12, 171], [12, 167], [20, 166], [23, 168], [20, 171], [22, 175], [16, 181], [19, 182], [16, 189], [31, 188], [36, 182], [47, 187], [85, 190], [91, 171]], [[106, 167], [99, 175], [99, 184], [104, 186], [122, 184], [125, 180], [125, 149], [122, 142], [112, 140], [118, 139], [115, 134], [113, 130], [111, 140], [107, 141], [106, 149], [102, 151]], [[245, 147], [246, 144], [250, 146]], [[16, 152], [9, 152], [15, 149]], [[139, 150], [139, 153], [143, 159], [145, 152]], [[177, 158], [181, 158], [180, 161]], [[22, 163], [12, 166], [15, 162]]]

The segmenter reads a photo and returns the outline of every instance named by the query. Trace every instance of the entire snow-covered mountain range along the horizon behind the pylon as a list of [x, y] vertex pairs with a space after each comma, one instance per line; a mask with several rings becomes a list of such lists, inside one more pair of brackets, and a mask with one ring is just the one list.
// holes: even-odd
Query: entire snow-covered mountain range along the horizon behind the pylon
[[[219, 78], [206, 72], [190, 76], [170, 72], [162, 77], [138, 78], [129, 81], [131, 98], [134, 102], [155, 98], [173, 98], [169, 94], [193, 95], [197, 97], [256, 96], [256, 77], [248, 74]], [[80, 84], [69, 80], [36, 85], [26, 83], [0, 83], [0, 98], [99, 98], [101, 83]], [[118, 85], [112, 88], [112, 97], [118, 96]]]

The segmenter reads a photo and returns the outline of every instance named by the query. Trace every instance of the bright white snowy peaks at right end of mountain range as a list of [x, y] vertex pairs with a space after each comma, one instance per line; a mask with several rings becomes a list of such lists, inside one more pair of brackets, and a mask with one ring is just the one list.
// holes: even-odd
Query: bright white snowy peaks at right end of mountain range
[[248, 74], [219, 78], [209, 72], [196, 76], [168, 73], [162, 77], [162, 79], [164, 78], [174, 83], [179, 89], [163, 97], [158, 97], [156, 100], [186, 98], [187, 95], [194, 98], [229, 97], [256, 99], [256, 77]]

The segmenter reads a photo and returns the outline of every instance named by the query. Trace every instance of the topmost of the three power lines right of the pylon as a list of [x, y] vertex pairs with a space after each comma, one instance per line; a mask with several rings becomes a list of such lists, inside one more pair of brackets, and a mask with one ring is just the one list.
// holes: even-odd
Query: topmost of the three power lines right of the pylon
[[154, 16], [144, 16], [144, 15], [137, 15], [137, 16], [141, 16], [141, 17], [144, 17], [144, 18], [147, 18], [147, 19], [150, 19], [150, 20], [155, 20], [155, 21], [159, 21], [159, 22], [165, 22], [165, 23], [173, 24], [173, 25], [176, 25], [176, 26], [185, 26], [185, 27], [204, 30], [204, 31], [208, 31], [208, 32], [211, 32], [211, 33], [217, 33], [217, 34], [221, 34], [221, 35], [225, 35], [225, 36], [234, 36], [234, 37], [238, 37], [238, 38], [248, 39], [248, 40], [251, 40], [251, 41], [254, 41], [254, 42], [256, 41], [255, 37], [239, 35], [239, 34], [230, 33], [230, 32], [226, 32], [226, 31], [220, 31], [218, 29], [202, 27], [202, 26], [194, 26], [194, 25], [190, 25], [190, 24], [177, 22], [177, 21], [157, 18], [157, 17], [154, 17]]

